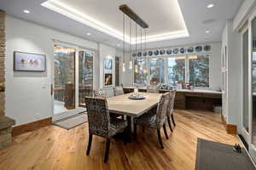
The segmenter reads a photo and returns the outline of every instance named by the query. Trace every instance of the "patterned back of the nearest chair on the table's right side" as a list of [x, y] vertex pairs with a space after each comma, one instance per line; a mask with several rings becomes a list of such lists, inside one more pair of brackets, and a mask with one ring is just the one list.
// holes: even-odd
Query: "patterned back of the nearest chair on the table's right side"
[[160, 98], [160, 102], [156, 111], [156, 123], [158, 126], [162, 126], [166, 122], [166, 111], [169, 102], [170, 94], [163, 94]]

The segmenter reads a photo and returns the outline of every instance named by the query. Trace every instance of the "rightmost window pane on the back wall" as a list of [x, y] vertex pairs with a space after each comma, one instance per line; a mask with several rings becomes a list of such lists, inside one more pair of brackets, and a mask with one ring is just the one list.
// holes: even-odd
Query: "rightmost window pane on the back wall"
[[209, 88], [209, 55], [189, 56], [189, 83]]

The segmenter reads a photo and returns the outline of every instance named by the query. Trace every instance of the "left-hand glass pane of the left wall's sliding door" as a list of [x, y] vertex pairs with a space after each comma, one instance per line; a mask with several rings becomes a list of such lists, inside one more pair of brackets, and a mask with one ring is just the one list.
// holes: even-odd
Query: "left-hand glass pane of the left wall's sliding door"
[[75, 48], [55, 45], [55, 113], [75, 109]]

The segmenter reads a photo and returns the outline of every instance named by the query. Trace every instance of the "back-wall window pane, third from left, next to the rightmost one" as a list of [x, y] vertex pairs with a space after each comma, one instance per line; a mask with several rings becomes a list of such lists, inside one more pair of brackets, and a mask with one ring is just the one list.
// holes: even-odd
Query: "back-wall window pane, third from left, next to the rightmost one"
[[176, 86], [185, 82], [186, 57], [168, 58], [168, 86]]

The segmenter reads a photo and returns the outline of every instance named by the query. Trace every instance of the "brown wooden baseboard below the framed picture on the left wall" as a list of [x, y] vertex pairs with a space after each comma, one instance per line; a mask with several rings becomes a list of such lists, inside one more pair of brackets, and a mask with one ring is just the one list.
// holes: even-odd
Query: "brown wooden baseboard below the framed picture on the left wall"
[[52, 122], [51, 117], [49, 117], [49, 118], [45, 118], [45, 119], [42, 119], [42, 120], [38, 120], [36, 122], [29, 122], [29, 123], [26, 123], [24, 125], [13, 127], [12, 135], [17, 136], [17, 135], [22, 134], [22, 133], [37, 130], [38, 128], [46, 127], [46, 126], [51, 125], [51, 122]]

